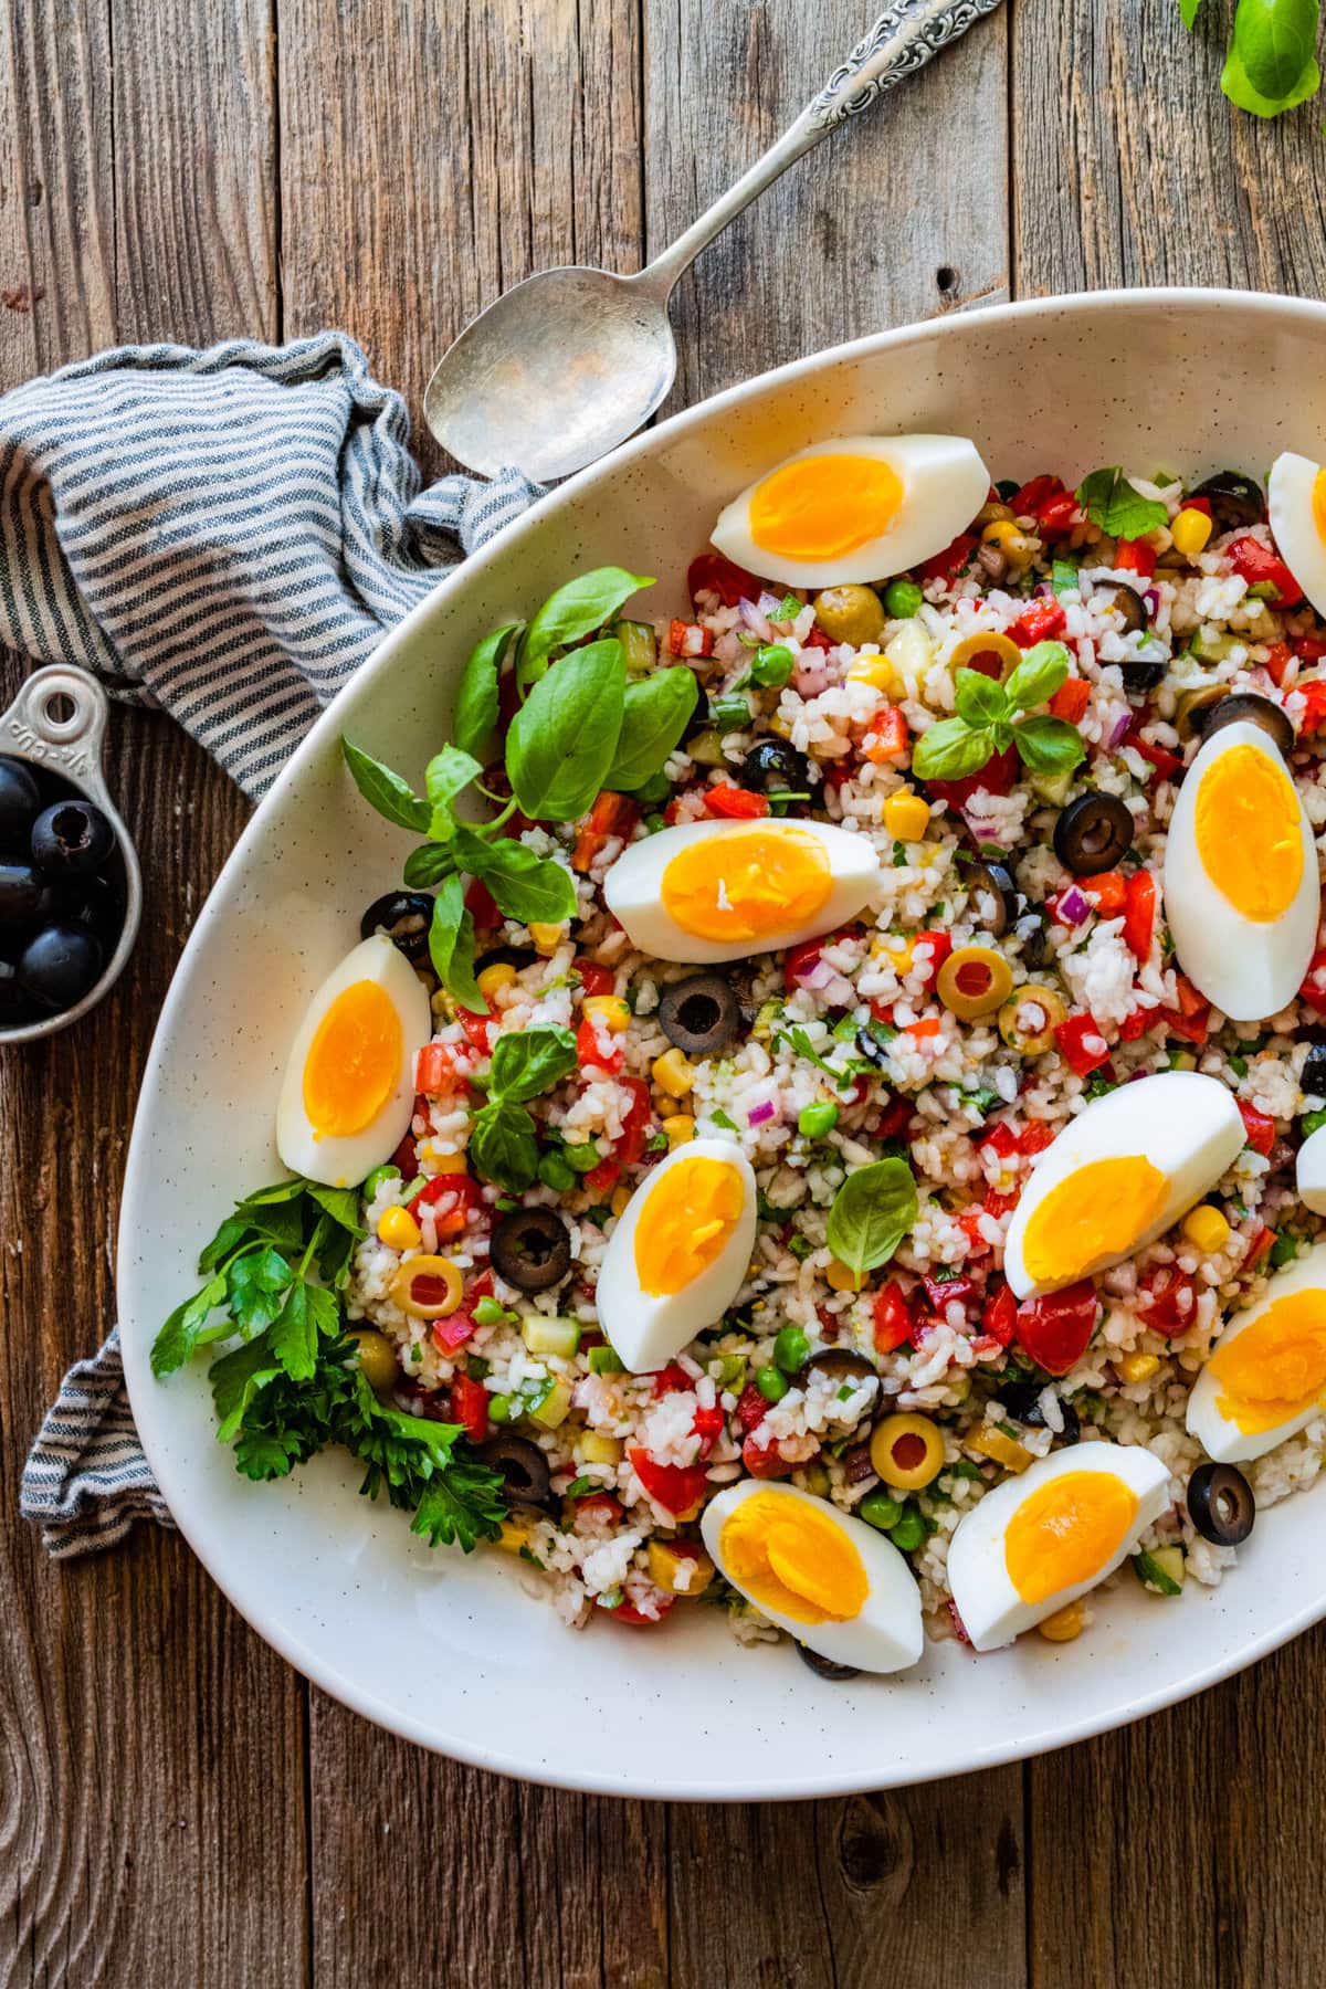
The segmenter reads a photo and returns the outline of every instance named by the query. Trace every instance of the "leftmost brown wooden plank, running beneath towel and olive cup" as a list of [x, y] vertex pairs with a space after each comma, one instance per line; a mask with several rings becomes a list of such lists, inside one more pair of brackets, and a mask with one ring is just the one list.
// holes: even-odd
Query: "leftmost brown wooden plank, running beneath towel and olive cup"
[[[270, 257], [254, 247], [272, 237], [270, 90], [243, 111], [264, 74], [254, 18], [149, 12], [62, 0], [0, 14], [6, 386], [117, 336], [274, 326]], [[6, 702], [22, 672], [4, 660]], [[18, 1518], [22, 1450], [66, 1364], [113, 1319], [147, 1040], [245, 817], [165, 720], [117, 714], [107, 778], [147, 869], [135, 959], [76, 1030], [0, 1052], [0, 1979], [294, 1985], [306, 1975], [300, 1681], [177, 1536], [141, 1530], [56, 1569]]]

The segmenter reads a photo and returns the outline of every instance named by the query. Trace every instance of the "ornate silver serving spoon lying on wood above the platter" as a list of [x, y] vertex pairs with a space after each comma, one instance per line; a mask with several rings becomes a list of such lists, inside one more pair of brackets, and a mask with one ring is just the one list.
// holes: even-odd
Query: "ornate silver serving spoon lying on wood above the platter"
[[793, 159], [992, 14], [998, 0], [897, 0], [797, 121], [638, 276], [549, 269], [473, 318], [441, 358], [423, 416], [483, 475], [569, 477], [648, 422], [676, 374], [668, 298], [702, 249]]

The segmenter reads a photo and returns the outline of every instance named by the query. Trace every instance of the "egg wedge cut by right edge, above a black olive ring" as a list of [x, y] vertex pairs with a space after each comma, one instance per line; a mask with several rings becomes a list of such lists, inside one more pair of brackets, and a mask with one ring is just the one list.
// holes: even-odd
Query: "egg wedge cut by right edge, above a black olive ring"
[[1189, 1436], [1217, 1464], [1260, 1458], [1326, 1408], [1326, 1243], [1237, 1313], [1189, 1394]]

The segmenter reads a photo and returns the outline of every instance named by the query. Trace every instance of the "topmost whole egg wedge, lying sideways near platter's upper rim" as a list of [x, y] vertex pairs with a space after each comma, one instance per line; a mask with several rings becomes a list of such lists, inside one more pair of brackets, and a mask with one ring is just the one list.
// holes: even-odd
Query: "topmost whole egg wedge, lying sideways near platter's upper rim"
[[845, 436], [799, 450], [734, 497], [714, 545], [791, 587], [883, 581], [942, 553], [988, 493], [964, 436]]

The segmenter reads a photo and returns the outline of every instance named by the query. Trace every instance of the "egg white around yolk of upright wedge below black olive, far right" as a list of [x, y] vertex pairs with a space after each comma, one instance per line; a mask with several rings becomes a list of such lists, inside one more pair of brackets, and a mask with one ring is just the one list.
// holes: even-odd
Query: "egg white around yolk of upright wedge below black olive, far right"
[[1278, 919], [1266, 925], [1244, 919], [1207, 875], [1197, 847], [1197, 794], [1203, 776], [1235, 746], [1252, 746], [1290, 778], [1274, 740], [1260, 726], [1241, 720], [1211, 734], [1183, 778], [1169, 821], [1165, 915], [1189, 981], [1231, 1020], [1260, 1022], [1284, 1008], [1302, 985], [1316, 947], [1322, 891], [1312, 825], [1296, 790], [1302, 881]]

